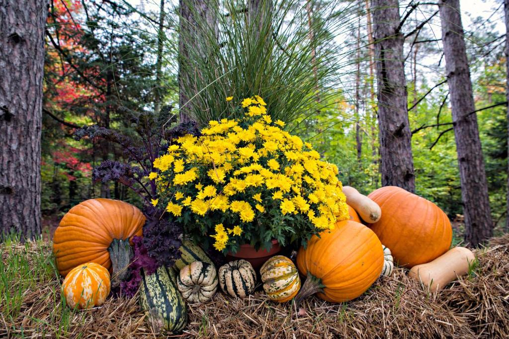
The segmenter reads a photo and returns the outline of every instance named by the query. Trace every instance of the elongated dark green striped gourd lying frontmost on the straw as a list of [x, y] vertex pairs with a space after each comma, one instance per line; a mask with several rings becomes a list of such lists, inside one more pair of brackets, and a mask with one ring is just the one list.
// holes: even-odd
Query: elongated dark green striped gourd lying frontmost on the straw
[[175, 284], [172, 268], [159, 267], [154, 273], [143, 273], [139, 301], [148, 313], [147, 321], [157, 331], [182, 331], [187, 324], [187, 307]]

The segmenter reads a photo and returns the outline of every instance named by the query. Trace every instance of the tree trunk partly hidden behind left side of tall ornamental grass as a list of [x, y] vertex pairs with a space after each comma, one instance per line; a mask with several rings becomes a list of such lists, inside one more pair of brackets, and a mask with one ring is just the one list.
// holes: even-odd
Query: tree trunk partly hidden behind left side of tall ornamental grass
[[205, 27], [217, 32], [214, 6], [217, 5], [213, 1], [179, 0], [179, 107], [182, 122], [191, 119], [193, 108], [192, 100], [191, 102], [189, 100], [199, 91], [192, 79], [199, 76], [200, 70], [193, 70], [191, 74], [191, 70], [186, 67], [189, 59], [188, 51], [203, 50], [203, 41], [207, 39]]

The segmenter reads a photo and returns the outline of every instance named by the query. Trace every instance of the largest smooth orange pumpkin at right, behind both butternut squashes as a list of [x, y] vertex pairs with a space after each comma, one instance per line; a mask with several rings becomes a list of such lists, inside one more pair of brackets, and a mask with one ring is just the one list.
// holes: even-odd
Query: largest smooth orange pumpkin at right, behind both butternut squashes
[[382, 209], [382, 218], [368, 226], [400, 265], [428, 263], [449, 250], [453, 229], [431, 201], [394, 186], [382, 187], [369, 198]]

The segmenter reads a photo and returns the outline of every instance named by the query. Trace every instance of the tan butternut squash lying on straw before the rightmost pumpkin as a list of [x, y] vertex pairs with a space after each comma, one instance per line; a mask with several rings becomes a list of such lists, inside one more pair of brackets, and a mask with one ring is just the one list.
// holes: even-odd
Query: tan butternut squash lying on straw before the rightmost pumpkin
[[474, 260], [472, 251], [455, 247], [427, 264], [412, 267], [408, 275], [434, 292], [443, 289], [458, 276], [467, 274]]

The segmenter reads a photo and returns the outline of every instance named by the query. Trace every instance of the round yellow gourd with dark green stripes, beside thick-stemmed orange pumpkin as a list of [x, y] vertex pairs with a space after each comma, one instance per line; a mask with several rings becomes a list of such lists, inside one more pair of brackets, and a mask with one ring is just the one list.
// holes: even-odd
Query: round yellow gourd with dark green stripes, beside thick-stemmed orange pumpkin
[[285, 256], [274, 256], [260, 268], [263, 289], [269, 299], [285, 302], [297, 295], [300, 289], [299, 271]]

